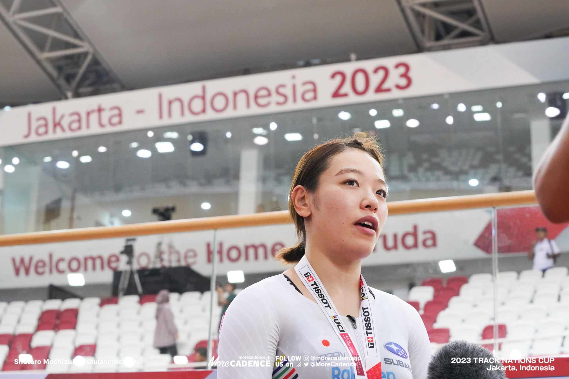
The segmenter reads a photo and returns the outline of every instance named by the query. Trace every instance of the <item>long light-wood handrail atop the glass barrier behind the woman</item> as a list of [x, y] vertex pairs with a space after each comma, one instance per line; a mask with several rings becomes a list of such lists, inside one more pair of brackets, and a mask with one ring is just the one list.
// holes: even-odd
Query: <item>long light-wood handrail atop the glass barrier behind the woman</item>
[[[502, 207], [536, 203], [534, 191], [441, 197], [387, 203], [390, 215]], [[47, 232], [0, 235], [0, 246], [121, 238], [198, 230], [240, 228], [291, 223], [288, 211], [230, 215], [186, 220], [147, 222], [110, 227], [78, 228]]]

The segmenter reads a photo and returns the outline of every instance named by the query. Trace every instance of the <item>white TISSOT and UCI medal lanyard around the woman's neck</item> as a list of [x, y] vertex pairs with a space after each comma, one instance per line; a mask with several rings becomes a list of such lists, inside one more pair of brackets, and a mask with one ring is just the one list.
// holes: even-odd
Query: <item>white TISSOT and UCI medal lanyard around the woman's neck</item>
[[[320, 309], [326, 315], [330, 325], [332, 326], [333, 330], [336, 332], [336, 335], [342, 343], [347, 351], [352, 356], [354, 360], [354, 364], [356, 366], [356, 373], [358, 376], [363, 376], [368, 379], [380, 379], [381, 378], [381, 358], [380, 352], [377, 348], [376, 343], [376, 325], [377, 323], [374, 320], [374, 316], [372, 313], [372, 305], [369, 299], [369, 290], [368, 286], [365, 284], [364, 277], [360, 274], [360, 320], [362, 320], [362, 324], [364, 326], [364, 337], [365, 337], [365, 366], [369, 367], [370, 369], [367, 372], [364, 370], [362, 366], [362, 360], [358, 355], [356, 347], [354, 346], [352, 339], [346, 332], [344, 324], [340, 319], [339, 313], [336, 310], [336, 307], [332, 303], [332, 299], [329, 297], [327, 291], [324, 289], [324, 286], [321, 284], [318, 275], [312, 269], [310, 262], [306, 258], [306, 255], [300, 259], [299, 263], [295, 266], [296, 274], [300, 277], [300, 280], [303, 282], [304, 286], [310, 291], [316, 303], [320, 306]], [[357, 329], [354, 330], [355, 333], [359, 333]]]

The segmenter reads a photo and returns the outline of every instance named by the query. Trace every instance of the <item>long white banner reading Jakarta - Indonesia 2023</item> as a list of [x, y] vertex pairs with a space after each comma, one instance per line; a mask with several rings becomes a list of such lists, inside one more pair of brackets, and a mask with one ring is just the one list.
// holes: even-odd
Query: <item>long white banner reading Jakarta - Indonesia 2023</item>
[[[535, 54], [536, 49], [545, 53]], [[0, 111], [0, 146], [565, 80], [569, 78], [569, 72], [559, 63], [569, 60], [568, 52], [569, 38], [538, 40], [321, 65], [15, 107]]]

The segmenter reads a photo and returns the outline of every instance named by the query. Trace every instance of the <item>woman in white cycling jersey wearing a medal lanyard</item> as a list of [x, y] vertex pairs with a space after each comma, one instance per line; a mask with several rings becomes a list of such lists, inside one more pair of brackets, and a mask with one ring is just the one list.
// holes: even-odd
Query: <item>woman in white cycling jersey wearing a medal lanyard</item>
[[295, 264], [241, 291], [222, 318], [219, 379], [426, 377], [431, 348], [417, 311], [369, 288], [361, 261], [387, 218], [376, 139], [321, 144], [300, 159], [288, 208]]

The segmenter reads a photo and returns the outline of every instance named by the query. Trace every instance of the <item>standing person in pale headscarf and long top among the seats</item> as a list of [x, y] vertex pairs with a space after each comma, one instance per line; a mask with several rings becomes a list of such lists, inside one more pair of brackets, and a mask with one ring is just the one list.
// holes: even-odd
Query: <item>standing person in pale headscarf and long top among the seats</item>
[[160, 350], [160, 354], [170, 354], [172, 357], [178, 355], [176, 340], [178, 339], [178, 328], [174, 324], [174, 315], [168, 302], [170, 301], [170, 291], [160, 290], [156, 295], [156, 331], [154, 332], [154, 347]]

